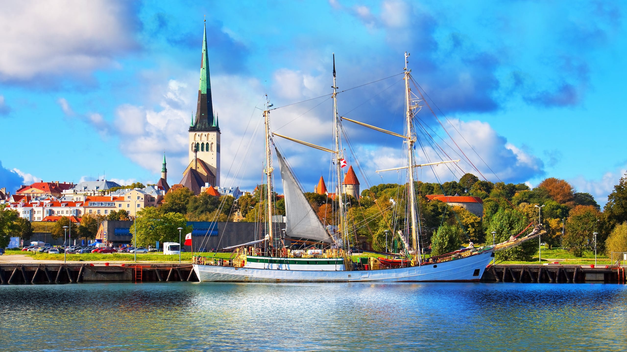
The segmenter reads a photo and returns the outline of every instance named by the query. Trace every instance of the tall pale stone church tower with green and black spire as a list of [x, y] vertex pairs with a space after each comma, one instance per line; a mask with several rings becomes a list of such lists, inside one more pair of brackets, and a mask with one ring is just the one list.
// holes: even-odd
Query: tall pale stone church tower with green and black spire
[[203, 58], [200, 66], [198, 105], [196, 106], [196, 116], [192, 118], [192, 123], [189, 126], [189, 166], [187, 169], [189, 168], [194, 168], [203, 174], [204, 182], [219, 187], [220, 128], [218, 116], [214, 115], [213, 101], [211, 101], [206, 23], [203, 34]]

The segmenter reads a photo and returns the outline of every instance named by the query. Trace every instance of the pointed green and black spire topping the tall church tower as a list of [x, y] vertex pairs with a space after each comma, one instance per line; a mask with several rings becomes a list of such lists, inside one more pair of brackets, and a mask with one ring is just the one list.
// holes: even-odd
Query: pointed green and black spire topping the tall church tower
[[200, 83], [198, 86], [198, 106], [196, 121], [189, 127], [195, 131], [215, 131], [216, 122], [213, 115], [213, 101], [211, 101], [211, 80], [209, 78], [209, 54], [207, 52], [207, 24], [204, 24], [203, 57], [200, 65]]

